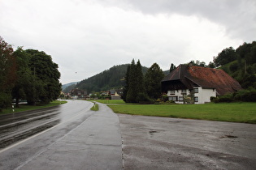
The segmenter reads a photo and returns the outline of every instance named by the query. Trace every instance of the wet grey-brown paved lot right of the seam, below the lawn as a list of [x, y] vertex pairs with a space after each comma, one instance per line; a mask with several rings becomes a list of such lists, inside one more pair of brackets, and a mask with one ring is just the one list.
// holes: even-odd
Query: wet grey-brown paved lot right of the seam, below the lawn
[[256, 125], [119, 114], [124, 169], [255, 169]]

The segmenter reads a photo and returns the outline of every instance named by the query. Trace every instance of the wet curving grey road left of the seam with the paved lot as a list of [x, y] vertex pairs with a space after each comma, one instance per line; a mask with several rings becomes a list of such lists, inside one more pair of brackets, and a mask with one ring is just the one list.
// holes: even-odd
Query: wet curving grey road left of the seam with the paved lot
[[[98, 112], [91, 111], [92, 106], [91, 102], [71, 100], [57, 108], [40, 110], [40, 114], [23, 113], [26, 121], [18, 116], [12, 121], [6, 117], [2, 126], [14, 130], [1, 132], [6, 140], [9, 136], [11, 141], [11, 135], [23, 136], [26, 127], [37, 134], [16, 138], [24, 140], [2, 148], [0, 169], [122, 169], [118, 116], [105, 104]], [[47, 118], [36, 118], [47, 114]], [[46, 130], [44, 125], [52, 121], [55, 123]], [[44, 131], [39, 132], [37, 126]]]

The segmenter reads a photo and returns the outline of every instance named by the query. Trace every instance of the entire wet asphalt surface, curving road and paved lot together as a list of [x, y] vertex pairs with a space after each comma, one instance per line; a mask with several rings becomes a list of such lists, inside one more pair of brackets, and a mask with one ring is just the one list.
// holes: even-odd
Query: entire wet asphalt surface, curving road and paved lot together
[[92, 106], [71, 100], [1, 117], [0, 169], [256, 167], [256, 125], [115, 114], [106, 104], [93, 112]]

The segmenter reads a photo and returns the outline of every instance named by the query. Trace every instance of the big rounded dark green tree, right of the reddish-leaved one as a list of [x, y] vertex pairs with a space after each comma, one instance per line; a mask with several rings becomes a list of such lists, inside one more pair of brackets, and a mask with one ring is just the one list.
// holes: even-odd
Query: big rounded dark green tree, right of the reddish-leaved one
[[25, 52], [30, 56], [28, 66], [33, 72], [33, 91], [28, 97], [28, 103], [35, 104], [37, 99], [41, 100], [41, 103], [58, 99], [61, 91], [58, 65], [45, 52], [35, 49], [27, 49]]

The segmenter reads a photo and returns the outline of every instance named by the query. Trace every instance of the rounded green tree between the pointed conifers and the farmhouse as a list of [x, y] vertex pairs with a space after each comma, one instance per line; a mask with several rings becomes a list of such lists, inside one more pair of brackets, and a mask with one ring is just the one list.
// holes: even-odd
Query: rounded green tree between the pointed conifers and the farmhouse
[[163, 70], [157, 63], [150, 66], [145, 73], [145, 89], [152, 99], [158, 99], [161, 96], [161, 80], [163, 79]]

